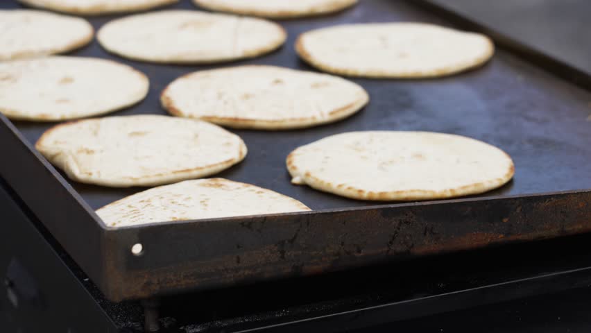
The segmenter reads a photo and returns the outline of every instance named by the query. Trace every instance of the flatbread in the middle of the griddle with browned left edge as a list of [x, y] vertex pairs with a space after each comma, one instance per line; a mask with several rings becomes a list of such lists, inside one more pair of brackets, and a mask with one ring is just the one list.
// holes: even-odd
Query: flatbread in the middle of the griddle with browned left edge
[[161, 96], [171, 114], [233, 128], [282, 130], [338, 121], [369, 101], [343, 78], [274, 66], [196, 71], [173, 81]]

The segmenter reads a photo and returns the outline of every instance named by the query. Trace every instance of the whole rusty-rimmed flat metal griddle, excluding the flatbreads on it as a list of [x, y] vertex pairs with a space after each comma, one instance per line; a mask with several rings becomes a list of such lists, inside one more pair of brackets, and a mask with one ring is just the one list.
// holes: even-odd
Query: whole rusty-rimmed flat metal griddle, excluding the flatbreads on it
[[[184, 1], [169, 8], [194, 7]], [[363, 0], [336, 15], [283, 21], [289, 39], [282, 49], [231, 64], [133, 62], [106, 53], [96, 40], [71, 54], [117, 60], [148, 75], [151, 89], [146, 100], [114, 115], [165, 114], [160, 92], [191, 71], [242, 64], [314, 70], [293, 51], [295, 37], [313, 28], [352, 22], [418, 21], [455, 27], [469, 23], [434, 8], [427, 1]], [[99, 28], [115, 17], [89, 21]], [[588, 75], [491, 35], [497, 42], [493, 60], [464, 74], [429, 80], [354, 79], [368, 90], [370, 104], [339, 123], [280, 132], [232, 130], [244, 139], [249, 154], [218, 176], [292, 196], [313, 212], [108, 228], [94, 210], [143, 188], [109, 189], [67, 180], [33, 148], [52, 124], [11, 122], [3, 116], [0, 175], [113, 301], [588, 232]], [[565, 73], [576, 73], [576, 82], [558, 77], [568, 78]], [[293, 148], [351, 130], [431, 130], [481, 139], [513, 157], [515, 178], [480, 196], [387, 204], [348, 200], [290, 184], [284, 159]], [[131, 253], [134, 244], [142, 244], [142, 255]]]

